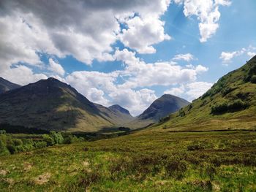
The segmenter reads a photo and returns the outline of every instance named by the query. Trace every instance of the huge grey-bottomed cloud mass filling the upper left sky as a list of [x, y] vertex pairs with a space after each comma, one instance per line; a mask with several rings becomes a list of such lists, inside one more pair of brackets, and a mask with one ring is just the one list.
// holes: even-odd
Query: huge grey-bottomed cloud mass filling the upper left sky
[[[1, 64], [38, 64], [38, 53], [72, 55], [85, 64], [94, 59], [112, 61], [111, 46], [118, 39], [140, 53], [154, 53], [152, 45], [170, 39], [160, 20], [169, 4], [169, 0], [3, 0]], [[127, 28], [121, 31], [120, 25]]]

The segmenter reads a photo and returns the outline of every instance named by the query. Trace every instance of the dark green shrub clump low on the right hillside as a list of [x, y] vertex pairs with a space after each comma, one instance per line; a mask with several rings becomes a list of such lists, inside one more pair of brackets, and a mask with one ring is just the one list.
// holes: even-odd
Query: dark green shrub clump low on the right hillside
[[248, 107], [248, 104], [244, 101], [241, 101], [240, 99], [235, 100], [231, 103], [228, 103], [225, 101], [222, 104], [217, 104], [211, 107], [211, 113], [212, 114], [220, 114], [225, 112], [236, 112], [239, 110], [244, 110]]

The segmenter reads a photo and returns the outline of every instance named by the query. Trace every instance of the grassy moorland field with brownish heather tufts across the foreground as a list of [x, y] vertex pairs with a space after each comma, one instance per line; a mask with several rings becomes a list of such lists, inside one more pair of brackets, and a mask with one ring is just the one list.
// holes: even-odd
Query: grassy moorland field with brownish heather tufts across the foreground
[[0, 157], [1, 191], [256, 191], [256, 131], [122, 137]]

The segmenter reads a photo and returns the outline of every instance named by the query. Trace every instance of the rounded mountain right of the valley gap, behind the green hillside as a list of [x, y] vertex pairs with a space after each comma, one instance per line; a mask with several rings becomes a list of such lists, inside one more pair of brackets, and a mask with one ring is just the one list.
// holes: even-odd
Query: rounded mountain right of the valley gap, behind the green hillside
[[157, 123], [161, 118], [165, 118], [165, 116], [180, 110], [188, 104], [189, 101], [186, 101], [185, 99], [165, 94], [155, 100], [141, 115], [135, 120], [127, 123], [125, 126], [131, 128], [143, 128], [151, 123]]

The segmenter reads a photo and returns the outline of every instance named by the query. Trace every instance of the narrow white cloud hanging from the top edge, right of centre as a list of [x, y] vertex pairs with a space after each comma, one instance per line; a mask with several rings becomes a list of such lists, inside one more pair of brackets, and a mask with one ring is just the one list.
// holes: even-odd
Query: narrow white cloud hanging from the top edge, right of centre
[[219, 28], [219, 5], [230, 6], [229, 0], [175, 0], [176, 4], [184, 4], [184, 15], [195, 15], [199, 20], [200, 42], [207, 42]]

